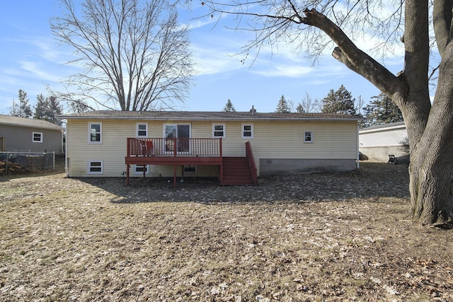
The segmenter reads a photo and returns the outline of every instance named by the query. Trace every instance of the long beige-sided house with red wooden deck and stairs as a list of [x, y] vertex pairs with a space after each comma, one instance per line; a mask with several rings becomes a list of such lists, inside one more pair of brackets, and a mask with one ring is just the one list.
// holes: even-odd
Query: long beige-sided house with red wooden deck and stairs
[[358, 165], [361, 117], [324, 113], [93, 111], [67, 121], [69, 177], [257, 177]]

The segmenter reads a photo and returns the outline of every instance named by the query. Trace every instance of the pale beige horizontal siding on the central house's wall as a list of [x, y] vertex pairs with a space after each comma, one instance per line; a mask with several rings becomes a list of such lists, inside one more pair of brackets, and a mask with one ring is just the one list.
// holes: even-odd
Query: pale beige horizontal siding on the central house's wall
[[[70, 158], [69, 176], [83, 177], [87, 174], [87, 161], [98, 158], [103, 161], [103, 176], [120, 177], [125, 171], [127, 137], [135, 137], [137, 120], [91, 120], [102, 122], [102, 144], [88, 144], [88, 120], [69, 119], [67, 123], [67, 157]], [[148, 137], [163, 137], [164, 124], [190, 124], [190, 137], [212, 138], [212, 121], [148, 121]], [[214, 123], [214, 124], [217, 124]], [[241, 121], [225, 121], [228, 136], [222, 139], [224, 156], [245, 156]], [[313, 134], [310, 144], [304, 143], [304, 132]], [[253, 155], [259, 173], [260, 158], [305, 158], [305, 159], [354, 159], [357, 157], [356, 121], [253, 121]], [[197, 165], [196, 176], [217, 177], [217, 166]], [[178, 165], [177, 175], [182, 173]], [[131, 166], [130, 175], [134, 175]], [[172, 165], [149, 165], [150, 177], [171, 177]], [[139, 177], [139, 174], [135, 175]]]

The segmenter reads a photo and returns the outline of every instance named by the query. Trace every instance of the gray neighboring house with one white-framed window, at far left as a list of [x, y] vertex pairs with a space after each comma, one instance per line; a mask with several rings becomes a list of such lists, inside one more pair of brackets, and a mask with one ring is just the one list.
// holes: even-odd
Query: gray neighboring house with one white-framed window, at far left
[[45, 120], [0, 115], [0, 151], [62, 154], [63, 131]]

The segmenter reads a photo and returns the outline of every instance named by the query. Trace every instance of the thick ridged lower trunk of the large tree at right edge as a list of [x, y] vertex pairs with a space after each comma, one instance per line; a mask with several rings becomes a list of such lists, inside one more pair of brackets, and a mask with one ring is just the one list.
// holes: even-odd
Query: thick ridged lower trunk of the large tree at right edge
[[411, 153], [411, 212], [422, 223], [445, 223], [453, 210], [453, 44], [442, 58], [430, 118]]

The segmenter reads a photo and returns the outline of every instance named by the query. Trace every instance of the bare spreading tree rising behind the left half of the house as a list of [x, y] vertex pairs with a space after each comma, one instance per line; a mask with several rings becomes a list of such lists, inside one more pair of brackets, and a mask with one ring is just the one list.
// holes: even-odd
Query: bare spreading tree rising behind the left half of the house
[[70, 63], [82, 64], [84, 71], [64, 82], [67, 91], [60, 99], [123, 111], [168, 108], [184, 100], [193, 62], [176, 4], [85, 0], [79, 9], [71, 0], [61, 3], [65, 14], [52, 20], [52, 32], [74, 49]]

